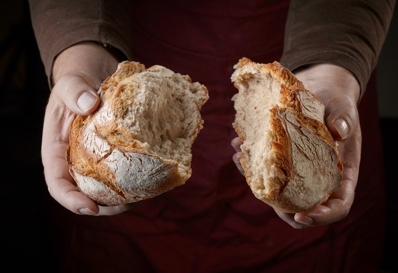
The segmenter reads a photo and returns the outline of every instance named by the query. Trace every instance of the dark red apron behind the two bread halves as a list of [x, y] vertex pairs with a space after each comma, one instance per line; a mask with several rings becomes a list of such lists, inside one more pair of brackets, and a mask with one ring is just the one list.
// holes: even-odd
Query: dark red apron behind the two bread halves
[[[236, 137], [233, 65], [241, 57], [279, 60], [289, 1], [192, 2], [141, 1], [131, 24], [135, 61], [189, 74], [209, 89], [204, 129], [193, 145], [192, 177], [121, 215], [62, 212], [68, 220], [65, 271], [375, 272], [383, 203], [373, 196], [382, 190], [381, 154], [378, 131], [369, 135], [366, 127], [378, 126], [375, 110], [362, 119], [362, 163], [372, 167], [362, 167], [350, 215], [326, 227], [291, 228], [253, 196], [232, 162], [230, 146]], [[376, 100], [367, 99], [375, 96], [372, 89], [363, 104], [372, 103], [377, 111]]]

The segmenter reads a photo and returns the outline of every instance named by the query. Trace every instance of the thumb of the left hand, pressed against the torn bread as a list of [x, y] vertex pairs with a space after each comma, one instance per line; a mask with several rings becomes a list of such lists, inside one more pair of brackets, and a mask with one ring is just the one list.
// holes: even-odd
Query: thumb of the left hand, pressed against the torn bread
[[[61, 98], [68, 109], [76, 114], [88, 115], [100, 105], [98, 88], [87, 76], [80, 73], [63, 75], [54, 85], [53, 92]], [[93, 86], [98, 86], [94, 88]]]

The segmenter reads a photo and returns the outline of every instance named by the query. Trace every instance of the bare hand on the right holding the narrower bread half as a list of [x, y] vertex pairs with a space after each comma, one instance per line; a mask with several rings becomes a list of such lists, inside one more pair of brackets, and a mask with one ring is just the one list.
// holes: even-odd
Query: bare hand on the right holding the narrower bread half
[[[315, 64], [295, 71], [306, 89], [313, 92], [325, 105], [326, 125], [338, 144], [343, 163], [341, 187], [329, 199], [312, 210], [301, 213], [285, 213], [278, 216], [293, 228], [328, 225], [342, 220], [350, 211], [354, 201], [361, 152], [361, 131], [357, 102], [359, 84], [346, 69], [330, 64]], [[236, 153], [232, 159], [243, 174], [239, 159], [243, 156], [241, 141], [231, 142]]]

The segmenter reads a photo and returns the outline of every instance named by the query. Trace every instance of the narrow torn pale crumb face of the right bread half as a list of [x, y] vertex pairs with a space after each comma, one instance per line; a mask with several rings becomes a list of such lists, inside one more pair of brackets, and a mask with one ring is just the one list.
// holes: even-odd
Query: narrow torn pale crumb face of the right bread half
[[281, 87], [270, 74], [260, 73], [241, 75], [236, 84], [239, 93], [233, 97], [237, 112], [234, 126], [244, 134], [241, 149], [250, 161], [251, 187], [267, 193], [272, 189], [268, 182], [277, 174], [269, 110], [279, 105]]

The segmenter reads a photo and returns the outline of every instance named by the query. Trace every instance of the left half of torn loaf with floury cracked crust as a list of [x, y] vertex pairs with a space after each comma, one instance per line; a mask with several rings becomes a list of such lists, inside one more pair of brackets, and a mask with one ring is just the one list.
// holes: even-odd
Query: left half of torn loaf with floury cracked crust
[[78, 188], [114, 206], [184, 184], [206, 87], [162, 66], [125, 61], [99, 92], [99, 109], [77, 115], [70, 128], [66, 160]]

